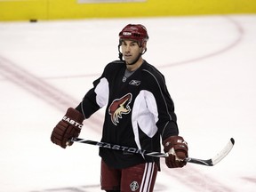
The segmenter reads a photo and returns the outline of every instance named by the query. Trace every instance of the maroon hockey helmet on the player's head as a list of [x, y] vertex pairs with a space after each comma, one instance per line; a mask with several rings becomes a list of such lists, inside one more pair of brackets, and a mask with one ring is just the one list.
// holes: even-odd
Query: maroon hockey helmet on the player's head
[[141, 24], [129, 24], [119, 33], [119, 40], [122, 41], [123, 39], [131, 39], [141, 45], [148, 41], [147, 28]]

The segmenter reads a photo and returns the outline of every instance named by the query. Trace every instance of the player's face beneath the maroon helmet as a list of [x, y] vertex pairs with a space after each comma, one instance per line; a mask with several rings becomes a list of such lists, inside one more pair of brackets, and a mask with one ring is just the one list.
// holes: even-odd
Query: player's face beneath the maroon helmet
[[136, 41], [123, 40], [121, 44], [124, 60], [128, 65], [138, 59], [142, 49]]

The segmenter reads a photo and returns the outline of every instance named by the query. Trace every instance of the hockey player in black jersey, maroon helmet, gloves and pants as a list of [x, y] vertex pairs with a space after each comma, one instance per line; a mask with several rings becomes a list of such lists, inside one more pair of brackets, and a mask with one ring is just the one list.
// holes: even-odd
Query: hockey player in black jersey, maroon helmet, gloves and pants
[[[160, 151], [169, 168], [183, 167], [187, 142], [179, 135], [172, 98], [164, 76], [142, 55], [147, 51], [148, 32], [140, 24], [129, 24], [119, 33], [119, 59], [110, 62], [93, 88], [76, 108], [52, 131], [51, 140], [61, 148], [77, 137], [84, 119], [107, 105], [102, 142]], [[124, 60], [123, 60], [124, 58]], [[153, 191], [159, 158], [100, 148], [101, 189], [110, 191]]]

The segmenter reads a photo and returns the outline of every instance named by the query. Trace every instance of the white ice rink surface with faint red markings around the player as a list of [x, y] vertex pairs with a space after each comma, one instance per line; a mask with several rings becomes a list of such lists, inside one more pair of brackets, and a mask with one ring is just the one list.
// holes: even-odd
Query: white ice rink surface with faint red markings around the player
[[[98, 148], [62, 149], [50, 135], [105, 65], [117, 60], [118, 32], [148, 28], [144, 59], [163, 72], [189, 156], [220, 164], [167, 169], [155, 191], [252, 192], [256, 188], [256, 15], [0, 23], [0, 191], [100, 191]], [[80, 137], [100, 140], [104, 109]]]

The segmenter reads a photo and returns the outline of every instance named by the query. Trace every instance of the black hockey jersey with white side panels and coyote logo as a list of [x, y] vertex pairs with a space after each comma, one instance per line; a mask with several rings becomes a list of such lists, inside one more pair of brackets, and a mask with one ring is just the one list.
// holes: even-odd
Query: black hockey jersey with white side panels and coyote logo
[[[109, 63], [76, 109], [89, 118], [107, 105], [102, 142], [160, 151], [161, 137], [164, 140], [179, 133], [164, 76], [145, 60], [127, 79], [125, 69], [124, 61]], [[117, 169], [145, 162], [159, 164], [156, 157], [109, 148], [100, 148], [100, 156]]]

